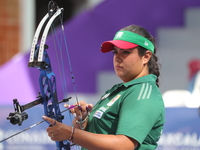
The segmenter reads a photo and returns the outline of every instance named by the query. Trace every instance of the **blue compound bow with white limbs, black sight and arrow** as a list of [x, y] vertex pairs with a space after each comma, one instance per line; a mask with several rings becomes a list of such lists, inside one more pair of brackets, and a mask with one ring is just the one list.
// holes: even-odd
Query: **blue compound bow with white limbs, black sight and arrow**
[[[46, 39], [47, 39], [49, 29], [52, 23], [55, 21], [55, 19], [62, 15], [63, 11], [64, 11], [63, 8], [59, 8], [58, 5], [54, 1], [50, 1], [48, 5], [48, 13], [43, 17], [43, 19], [40, 21], [36, 29], [33, 42], [32, 42], [28, 67], [33, 67], [40, 70], [40, 77], [39, 77], [40, 93], [39, 93], [39, 96], [37, 97], [38, 98], [37, 100], [30, 102], [26, 105], [21, 106], [17, 99], [13, 100], [15, 112], [10, 113], [7, 119], [10, 120], [10, 122], [14, 125], [15, 124], [22, 125], [22, 122], [28, 118], [28, 114], [24, 111], [38, 104], [43, 104], [45, 116], [54, 118], [55, 120], [59, 122], [62, 122], [62, 120], [64, 119], [64, 116], [61, 114], [62, 112], [60, 110], [59, 104], [62, 102], [69, 101], [71, 97], [64, 98], [62, 101], [58, 101], [57, 91], [56, 91], [56, 77], [52, 70], [50, 58], [46, 51], [46, 49], [48, 49], [48, 45], [46, 45]], [[62, 25], [62, 20], [60, 21]], [[46, 23], [46, 26], [44, 28], [44, 31], [40, 40], [41, 42], [40, 44], [38, 44], [39, 36], [45, 23]], [[62, 26], [62, 29], [64, 29], [63, 26]], [[69, 55], [68, 55], [68, 59], [69, 59]], [[69, 109], [70, 108], [68, 108], [67, 110]], [[44, 122], [44, 120], [0, 141], [0, 143], [42, 122]], [[56, 141], [56, 145], [57, 145], [57, 150], [71, 149], [71, 145], [69, 141]]]

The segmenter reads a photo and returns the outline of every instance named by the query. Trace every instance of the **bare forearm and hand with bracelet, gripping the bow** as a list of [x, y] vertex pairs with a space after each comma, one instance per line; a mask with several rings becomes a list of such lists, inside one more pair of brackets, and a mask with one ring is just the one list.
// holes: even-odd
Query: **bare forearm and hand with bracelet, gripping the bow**
[[53, 141], [70, 140], [89, 150], [133, 150], [138, 145], [136, 140], [125, 135], [95, 134], [60, 122], [55, 124], [54, 119], [46, 116], [43, 119], [54, 124], [47, 128], [48, 136]]

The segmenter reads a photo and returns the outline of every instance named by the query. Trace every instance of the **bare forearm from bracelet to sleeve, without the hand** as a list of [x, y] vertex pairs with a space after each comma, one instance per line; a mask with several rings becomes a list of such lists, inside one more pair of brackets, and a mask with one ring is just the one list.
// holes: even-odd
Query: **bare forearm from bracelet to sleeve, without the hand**
[[[135, 141], [135, 140], [134, 140]], [[89, 150], [133, 150], [137, 142], [124, 135], [95, 134], [75, 129], [73, 142]]]

